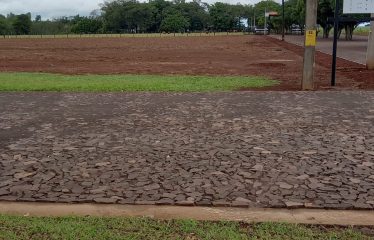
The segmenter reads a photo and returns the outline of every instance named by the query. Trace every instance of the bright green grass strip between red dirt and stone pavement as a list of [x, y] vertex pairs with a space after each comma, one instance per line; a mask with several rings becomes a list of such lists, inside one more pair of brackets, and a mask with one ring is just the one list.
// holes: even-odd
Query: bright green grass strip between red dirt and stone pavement
[[265, 77], [0, 73], [0, 91], [211, 92], [275, 84]]

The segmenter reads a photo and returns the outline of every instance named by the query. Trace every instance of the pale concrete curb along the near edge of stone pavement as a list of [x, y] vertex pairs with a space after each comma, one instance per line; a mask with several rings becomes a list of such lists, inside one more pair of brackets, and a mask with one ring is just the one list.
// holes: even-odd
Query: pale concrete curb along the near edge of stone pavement
[[213, 208], [155, 205], [0, 202], [0, 214], [22, 216], [151, 217], [300, 224], [374, 226], [374, 211]]

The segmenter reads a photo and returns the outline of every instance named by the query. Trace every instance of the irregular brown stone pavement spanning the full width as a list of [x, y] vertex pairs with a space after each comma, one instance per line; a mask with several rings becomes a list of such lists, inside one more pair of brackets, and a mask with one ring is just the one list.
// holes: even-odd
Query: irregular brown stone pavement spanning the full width
[[0, 200], [374, 209], [374, 92], [0, 93]]

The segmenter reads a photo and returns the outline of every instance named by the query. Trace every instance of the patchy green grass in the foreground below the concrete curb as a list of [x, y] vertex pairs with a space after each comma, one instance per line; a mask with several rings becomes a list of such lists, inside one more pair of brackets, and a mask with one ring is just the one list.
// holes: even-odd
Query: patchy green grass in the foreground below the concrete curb
[[0, 239], [372, 239], [350, 228], [281, 223], [160, 221], [148, 218], [14, 217], [0, 215]]

